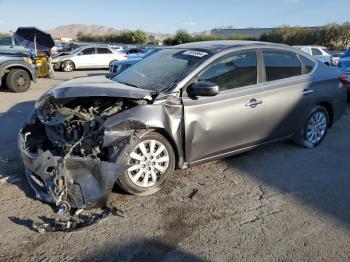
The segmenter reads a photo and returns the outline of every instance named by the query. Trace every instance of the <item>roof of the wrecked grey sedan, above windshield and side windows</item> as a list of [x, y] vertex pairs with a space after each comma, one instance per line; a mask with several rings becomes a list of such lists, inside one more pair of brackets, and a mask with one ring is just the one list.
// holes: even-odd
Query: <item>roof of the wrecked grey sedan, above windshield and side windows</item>
[[283, 46], [283, 44], [274, 44], [268, 42], [259, 42], [259, 41], [240, 41], [240, 40], [219, 40], [219, 41], [202, 41], [202, 42], [191, 42], [181, 45], [176, 45], [173, 48], [194, 48], [194, 49], [205, 49], [210, 52], [219, 52], [224, 49], [241, 47], [241, 46]]

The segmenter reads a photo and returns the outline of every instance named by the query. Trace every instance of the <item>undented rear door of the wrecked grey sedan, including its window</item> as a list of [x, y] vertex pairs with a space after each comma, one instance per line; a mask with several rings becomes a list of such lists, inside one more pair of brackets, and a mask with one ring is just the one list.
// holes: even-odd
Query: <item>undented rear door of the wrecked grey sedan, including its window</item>
[[299, 57], [306, 57], [291, 51], [263, 50], [261, 56], [266, 110], [263, 140], [270, 141], [292, 135], [311, 109], [314, 90], [307, 73], [312, 65], [304, 66]]

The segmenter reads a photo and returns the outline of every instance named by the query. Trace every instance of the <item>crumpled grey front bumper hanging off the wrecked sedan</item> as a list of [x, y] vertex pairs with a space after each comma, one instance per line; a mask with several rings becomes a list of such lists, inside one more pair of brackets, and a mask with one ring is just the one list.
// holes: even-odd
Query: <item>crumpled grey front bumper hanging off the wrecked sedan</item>
[[26, 177], [36, 197], [45, 202], [59, 205], [65, 201], [73, 208], [102, 207], [118, 175], [127, 169], [99, 159], [63, 158], [49, 150], [33, 154], [26, 149], [25, 137], [20, 131], [18, 143]]

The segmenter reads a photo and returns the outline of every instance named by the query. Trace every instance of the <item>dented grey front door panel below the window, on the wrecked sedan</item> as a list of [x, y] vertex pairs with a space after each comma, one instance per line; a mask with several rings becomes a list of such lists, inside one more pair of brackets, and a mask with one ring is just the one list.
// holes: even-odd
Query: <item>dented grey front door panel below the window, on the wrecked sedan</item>
[[186, 161], [196, 162], [259, 143], [264, 103], [254, 108], [246, 104], [261, 100], [262, 92], [261, 87], [252, 86], [215, 97], [183, 98]]

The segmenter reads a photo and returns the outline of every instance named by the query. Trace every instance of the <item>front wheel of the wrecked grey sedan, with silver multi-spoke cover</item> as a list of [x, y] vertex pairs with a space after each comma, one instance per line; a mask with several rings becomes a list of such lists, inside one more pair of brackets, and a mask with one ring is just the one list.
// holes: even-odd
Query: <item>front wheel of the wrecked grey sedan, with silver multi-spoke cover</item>
[[[152, 147], [151, 141], [154, 141], [154, 154], [150, 155], [149, 153]], [[148, 160], [143, 162], [143, 166], [140, 165], [140, 160], [130, 156], [133, 154], [135, 157], [135, 154], [137, 154], [138, 158], [141, 158], [141, 155], [144, 155], [140, 149], [141, 144], [145, 146], [144, 150], [148, 153], [146, 154]], [[161, 145], [164, 147], [163, 151], [161, 151]], [[158, 150], [161, 152], [156, 156], [155, 153], [157, 153]], [[168, 162], [162, 162], [162, 160], [167, 158]], [[158, 165], [156, 162], [159, 160], [161, 161]], [[118, 177], [117, 184], [122, 189], [133, 195], [150, 195], [160, 190], [162, 185], [164, 185], [173, 173], [175, 168], [175, 154], [171, 144], [164, 136], [157, 132], [148, 132], [131, 138], [130, 142], [122, 149], [116, 162], [118, 164], [130, 165], [128, 170]], [[158, 170], [158, 168], [163, 170], [163, 172]]]

